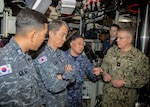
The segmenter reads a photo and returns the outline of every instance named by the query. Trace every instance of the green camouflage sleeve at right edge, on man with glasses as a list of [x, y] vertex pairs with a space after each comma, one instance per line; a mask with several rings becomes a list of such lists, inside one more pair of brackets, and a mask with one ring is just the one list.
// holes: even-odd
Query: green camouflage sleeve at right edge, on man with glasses
[[134, 74], [125, 79], [125, 87], [142, 88], [150, 79], [149, 60], [145, 55], [136, 57], [136, 69]]

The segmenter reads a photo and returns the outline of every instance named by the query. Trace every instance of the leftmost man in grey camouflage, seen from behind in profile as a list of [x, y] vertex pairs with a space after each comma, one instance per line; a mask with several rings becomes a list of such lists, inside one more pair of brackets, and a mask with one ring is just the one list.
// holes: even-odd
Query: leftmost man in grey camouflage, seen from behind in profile
[[16, 35], [0, 49], [0, 107], [40, 107], [38, 75], [31, 57], [48, 29], [47, 18], [34, 10], [23, 9], [16, 19]]

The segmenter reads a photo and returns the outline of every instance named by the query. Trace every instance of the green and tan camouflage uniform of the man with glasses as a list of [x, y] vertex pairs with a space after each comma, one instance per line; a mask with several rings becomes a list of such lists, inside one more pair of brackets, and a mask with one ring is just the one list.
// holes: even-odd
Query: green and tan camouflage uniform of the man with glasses
[[148, 58], [134, 47], [120, 55], [118, 47], [114, 46], [108, 50], [101, 67], [111, 75], [112, 80], [125, 81], [121, 88], [113, 87], [111, 82], [105, 83], [102, 107], [134, 107], [136, 89], [143, 87], [149, 80]]

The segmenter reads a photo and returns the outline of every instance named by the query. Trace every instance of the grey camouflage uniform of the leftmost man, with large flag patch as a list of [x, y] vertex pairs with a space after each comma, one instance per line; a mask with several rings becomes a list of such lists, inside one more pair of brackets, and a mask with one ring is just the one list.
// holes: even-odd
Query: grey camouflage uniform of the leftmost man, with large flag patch
[[31, 57], [12, 38], [0, 49], [0, 107], [39, 107], [36, 80]]

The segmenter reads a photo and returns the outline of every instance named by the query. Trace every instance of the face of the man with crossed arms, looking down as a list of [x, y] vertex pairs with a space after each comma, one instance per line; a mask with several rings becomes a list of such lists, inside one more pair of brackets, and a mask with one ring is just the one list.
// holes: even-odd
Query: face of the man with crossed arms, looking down
[[50, 31], [50, 40], [55, 48], [60, 48], [66, 41], [68, 29], [63, 25], [59, 31]]

